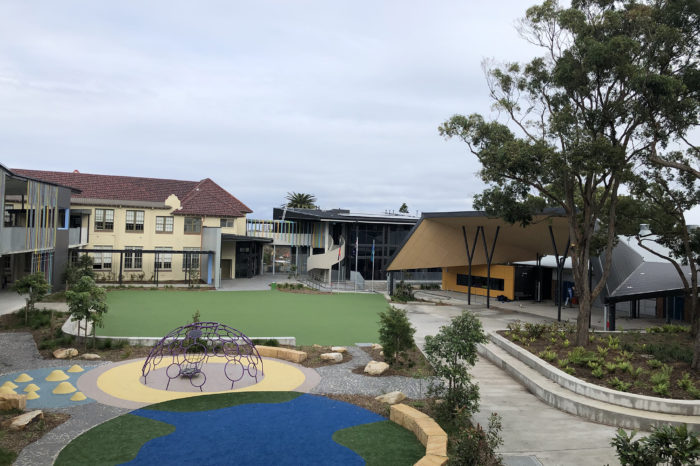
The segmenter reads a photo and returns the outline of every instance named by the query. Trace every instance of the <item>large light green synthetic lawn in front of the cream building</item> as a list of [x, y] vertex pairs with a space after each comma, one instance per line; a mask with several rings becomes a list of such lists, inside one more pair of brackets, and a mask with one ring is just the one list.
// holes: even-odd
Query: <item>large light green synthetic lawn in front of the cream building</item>
[[221, 322], [250, 337], [293, 336], [297, 345], [353, 345], [378, 340], [378, 294], [271, 291], [115, 290], [107, 294], [103, 336], [165, 336], [192, 321]]

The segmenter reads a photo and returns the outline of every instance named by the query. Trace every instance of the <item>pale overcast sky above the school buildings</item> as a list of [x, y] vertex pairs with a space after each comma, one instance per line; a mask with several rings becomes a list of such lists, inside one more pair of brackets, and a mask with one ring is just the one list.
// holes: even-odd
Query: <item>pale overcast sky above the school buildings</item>
[[539, 51], [529, 2], [0, 3], [0, 163], [212, 178], [270, 218], [471, 209], [479, 164], [437, 127], [495, 116], [484, 59]]

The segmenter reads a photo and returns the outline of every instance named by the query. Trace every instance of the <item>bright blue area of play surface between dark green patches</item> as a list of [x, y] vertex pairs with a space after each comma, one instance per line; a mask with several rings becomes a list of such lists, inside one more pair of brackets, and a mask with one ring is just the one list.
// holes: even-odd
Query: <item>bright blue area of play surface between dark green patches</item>
[[348, 427], [384, 421], [366, 409], [302, 395], [285, 403], [251, 403], [212, 411], [136, 410], [131, 414], [175, 426], [147, 442], [127, 464], [362, 465], [333, 441]]

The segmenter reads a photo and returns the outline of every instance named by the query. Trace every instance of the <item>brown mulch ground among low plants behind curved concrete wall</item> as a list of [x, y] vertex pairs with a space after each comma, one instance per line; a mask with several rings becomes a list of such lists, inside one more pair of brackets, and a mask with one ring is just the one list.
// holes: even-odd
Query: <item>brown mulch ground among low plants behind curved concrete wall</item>
[[[513, 335], [516, 332], [504, 330], [498, 333], [513, 341]], [[679, 381], [686, 377], [697, 390], [700, 390], [700, 371], [693, 370], [688, 361], [689, 355], [692, 356], [693, 348], [693, 340], [688, 332], [596, 333], [585, 351], [588, 354], [587, 358], [596, 357], [598, 361], [603, 361], [600, 364], [603, 369], [602, 374], [599, 370], [597, 376], [594, 374], [594, 368], [591, 368], [587, 362], [576, 364], [571, 361], [571, 352], [575, 348], [573, 333], [561, 333], [558, 337], [554, 337], [551, 333], [545, 332], [534, 340], [531, 334], [516, 337], [516, 339], [518, 341], [513, 342], [521, 348], [547, 360], [559, 369], [567, 371], [568, 368], [575, 377], [594, 385], [653, 397], [680, 400], [700, 398], [700, 394], [693, 394], [679, 386]], [[604, 353], [606, 348], [607, 352]], [[552, 357], [553, 354], [556, 356]], [[629, 362], [631, 367], [612, 368], [614, 364], [625, 362]], [[610, 367], [605, 367], [606, 365]], [[659, 377], [664, 365], [669, 367], [671, 372], [669, 382], [666, 384], [667, 390], [659, 392], [661, 387], [658, 382], [652, 381], [652, 377]]]

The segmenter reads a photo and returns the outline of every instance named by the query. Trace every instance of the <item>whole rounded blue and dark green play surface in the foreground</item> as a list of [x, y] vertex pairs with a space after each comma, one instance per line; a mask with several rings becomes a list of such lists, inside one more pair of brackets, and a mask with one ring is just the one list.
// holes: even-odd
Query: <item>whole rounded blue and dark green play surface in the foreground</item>
[[57, 465], [408, 465], [425, 448], [408, 430], [352, 404], [299, 392], [168, 401], [79, 436]]

